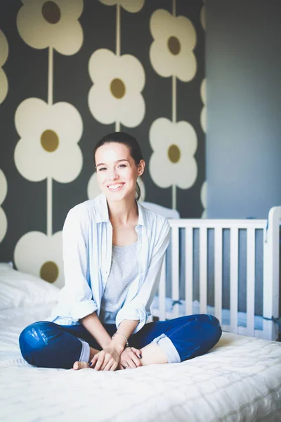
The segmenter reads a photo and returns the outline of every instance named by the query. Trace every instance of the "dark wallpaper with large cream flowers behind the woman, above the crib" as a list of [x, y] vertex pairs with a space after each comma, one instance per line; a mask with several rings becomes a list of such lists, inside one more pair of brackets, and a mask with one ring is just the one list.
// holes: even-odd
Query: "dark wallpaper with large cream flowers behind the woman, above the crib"
[[1, 261], [63, 286], [63, 222], [113, 131], [141, 144], [142, 200], [206, 215], [204, 28], [198, 0], [1, 2]]

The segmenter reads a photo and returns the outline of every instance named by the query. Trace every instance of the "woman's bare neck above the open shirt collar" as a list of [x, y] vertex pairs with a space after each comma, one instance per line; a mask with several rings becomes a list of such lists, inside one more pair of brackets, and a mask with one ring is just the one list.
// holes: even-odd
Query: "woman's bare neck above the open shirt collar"
[[128, 224], [138, 219], [138, 205], [135, 198], [108, 202], [108, 212], [111, 223]]

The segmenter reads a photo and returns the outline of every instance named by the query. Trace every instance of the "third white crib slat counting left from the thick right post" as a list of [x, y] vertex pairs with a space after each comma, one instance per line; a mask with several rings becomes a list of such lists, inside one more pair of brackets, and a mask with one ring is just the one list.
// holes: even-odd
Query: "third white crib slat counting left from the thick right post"
[[222, 323], [223, 308], [223, 229], [215, 229], [215, 252], [214, 252], [214, 271], [215, 271], [215, 316]]

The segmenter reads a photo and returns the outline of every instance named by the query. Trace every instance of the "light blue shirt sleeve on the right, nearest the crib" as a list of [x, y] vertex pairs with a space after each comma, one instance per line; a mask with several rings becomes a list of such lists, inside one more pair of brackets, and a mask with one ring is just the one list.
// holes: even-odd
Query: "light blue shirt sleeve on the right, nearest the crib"
[[169, 222], [164, 219], [164, 224], [159, 230], [159, 238], [152, 252], [150, 266], [145, 275], [145, 280], [137, 295], [130, 301], [124, 304], [116, 316], [116, 326], [124, 321], [124, 319], [139, 320], [138, 325], [132, 334], [137, 333], [145, 325], [148, 316], [150, 316], [150, 305], [157, 292], [159, 286], [162, 264], [166, 248], [169, 244], [171, 236], [171, 227]]

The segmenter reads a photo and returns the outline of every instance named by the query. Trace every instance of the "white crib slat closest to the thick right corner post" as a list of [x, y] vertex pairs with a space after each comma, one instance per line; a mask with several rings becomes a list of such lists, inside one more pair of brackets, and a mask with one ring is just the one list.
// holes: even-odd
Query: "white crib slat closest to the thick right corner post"
[[255, 229], [247, 229], [247, 335], [254, 336]]

